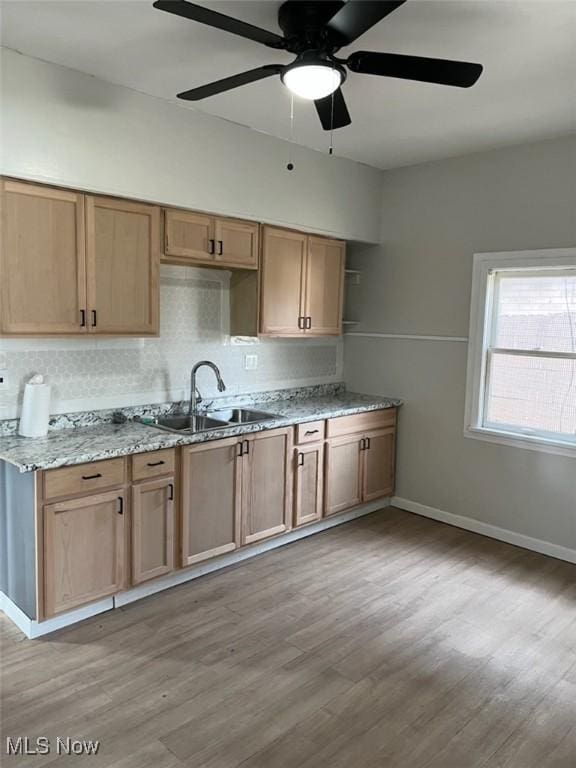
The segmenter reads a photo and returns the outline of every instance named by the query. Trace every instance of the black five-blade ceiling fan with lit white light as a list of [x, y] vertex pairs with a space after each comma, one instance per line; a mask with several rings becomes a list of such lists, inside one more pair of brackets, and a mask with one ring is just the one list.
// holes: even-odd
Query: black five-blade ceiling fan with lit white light
[[183, 16], [268, 48], [296, 55], [291, 64], [267, 64], [223, 80], [178, 94], [179, 99], [199, 101], [208, 96], [279, 75], [295, 95], [313, 100], [324, 130], [343, 128], [352, 122], [340, 86], [351, 72], [399, 77], [425, 83], [469, 88], [482, 73], [481, 64], [448, 59], [429, 59], [397, 53], [356, 51], [347, 59], [336, 56], [406, 0], [287, 0], [278, 11], [284, 36], [245, 21], [189, 3], [187, 0], [156, 0], [154, 7]]

